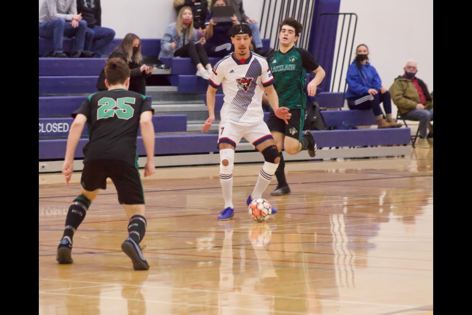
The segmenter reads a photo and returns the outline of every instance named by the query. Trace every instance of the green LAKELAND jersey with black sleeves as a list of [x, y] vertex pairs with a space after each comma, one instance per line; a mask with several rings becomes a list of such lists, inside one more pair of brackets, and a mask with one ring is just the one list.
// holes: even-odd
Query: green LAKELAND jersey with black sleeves
[[319, 64], [311, 54], [299, 47], [292, 47], [285, 54], [277, 50], [268, 59], [275, 80], [275, 91], [279, 105], [291, 109], [304, 109], [306, 103], [306, 71], [313, 71]]

